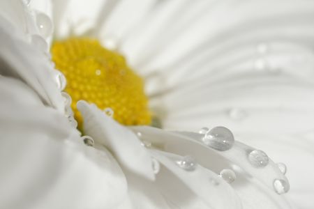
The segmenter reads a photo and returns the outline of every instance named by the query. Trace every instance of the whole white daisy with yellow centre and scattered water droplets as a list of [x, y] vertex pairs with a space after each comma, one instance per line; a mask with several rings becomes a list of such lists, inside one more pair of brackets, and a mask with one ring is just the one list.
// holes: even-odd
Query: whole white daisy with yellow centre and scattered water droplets
[[[32, 1], [29, 8], [26, 5], [20, 1], [1, 3], [1, 25], [10, 26], [2, 27], [1, 32], [1, 59], [6, 66], [1, 70], [1, 79], [3, 95], [8, 95], [1, 120], [12, 121], [3, 125], [4, 138], [16, 139], [3, 150], [10, 150], [13, 156], [5, 153], [6, 158], [17, 161], [20, 158], [15, 153], [19, 151], [36, 155], [37, 160], [22, 160], [38, 164], [34, 163], [27, 176], [7, 193], [3, 199], [6, 208], [20, 207], [12, 201], [17, 199], [15, 189], [27, 191], [36, 176], [40, 176], [36, 189], [31, 189], [29, 196], [21, 194], [19, 203], [23, 206], [114, 208], [121, 203], [120, 208], [289, 208], [276, 194], [289, 189], [285, 166], [277, 166], [264, 152], [239, 142], [232, 146], [232, 133], [225, 128], [202, 129], [197, 134], [130, 127], [130, 132], [100, 109], [127, 125], [147, 124], [151, 112], [163, 127], [172, 130], [224, 125], [231, 127], [237, 139], [260, 143], [274, 156], [282, 157], [285, 152], [278, 149], [284, 146], [299, 151], [297, 159], [305, 157], [301, 153], [304, 148], [295, 148], [297, 141], [292, 137], [312, 128], [309, 121], [313, 102], [309, 95], [313, 90], [308, 79], [312, 54], [301, 42], [311, 41], [311, 20], [307, 18], [313, 13], [311, 1], [276, 1], [271, 2], [271, 8], [270, 1], [95, 1], [88, 5], [85, 1]], [[53, 25], [56, 42], [52, 43], [52, 60], [66, 79], [45, 58], [50, 44], [43, 38], [50, 43]], [[8, 34], [14, 34], [13, 38]], [[117, 52], [126, 56], [128, 65]], [[98, 56], [105, 57], [105, 61], [99, 61]], [[297, 65], [301, 59], [308, 59], [305, 70], [295, 72], [292, 61]], [[107, 68], [112, 70], [110, 77], [104, 76]], [[150, 107], [145, 106], [144, 92], [139, 94], [141, 78], [131, 69], [144, 78]], [[59, 89], [54, 84], [56, 78]], [[100, 78], [112, 82], [112, 86], [99, 87]], [[119, 83], [129, 88], [117, 91]], [[4, 87], [8, 85], [15, 86], [12, 92]], [[79, 123], [82, 118], [75, 107], [77, 100], [98, 106], [78, 104], [84, 118], [81, 127], [89, 137], [77, 140], [80, 134], [64, 122], [62, 116], [70, 116], [70, 124], [76, 126], [69, 97], [60, 93], [65, 87]], [[290, 93], [283, 95], [287, 90]], [[95, 92], [103, 95], [93, 95]], [[304, 99], [309, 101], [301, 102]], [[24, 100], [30, 101], [27, 107], [21, 105]], [[16, 109], [21, 111], [12, 114]], [[33, 117], [35, 112], [38, 117]], [[17, 118], [23, 118], [22, 123], [17, 123]], [[296, 125], [295, 120], [304, 123]], [[44, 143], [43, 149], [38, 152], [36, 146], [21, 144], [23, 150], [16, 150], [21, 133], [28, 136], [24, 140], [27, 144]], [[226, 138], [221, 139], [220, 134]], [[42, 135], [47, 139], [44, 142]], [[253, 141], [262, 137], [265, 142]], [[280, 143], [276, 139], [279, 137], [287, 139]], [[146, 148], [140, 146], [138, 138]], [[94, 148], [84, 147], [82, 141]], [[267, 146], [269, 143], [278, 146]], [[41, 155], [53, 161], [51, 167], [41, 166]], [[308, 155], [306, 159], [313, 160], [313, 155]], [[62, 165], [56, 163], [56, 156]], [[15, 164], [3, 162], [8, 167], [3, 169], [13, 173], [20, 169], [22, 173], [22, 160], [14, 168]], [[47, 175], [46, 169], [52, 174]], [[156, 173], [155, 182], [149, 181]], [[6, 177], [16, 178], [11, 172]], [[299, 176], [295, 177], [299, 183]], [[308, 183], [307, 179], [304, 182]], [[54, 183], [57, 186], [52, 187]], [[303, 186], [300, 189], [306, 188]], [[40, 197], [38, 193], [47, 195]]]

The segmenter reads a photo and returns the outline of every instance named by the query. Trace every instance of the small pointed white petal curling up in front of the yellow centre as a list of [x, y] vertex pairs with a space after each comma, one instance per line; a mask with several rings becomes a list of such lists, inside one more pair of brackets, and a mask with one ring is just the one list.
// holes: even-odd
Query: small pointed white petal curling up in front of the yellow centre
[[77, 102], [77, 109], [84, 118], [84, 132], [111, 150], [123, 167], [151, 180], [155, 178], [151, 157], [133, 132], [119, 125], [95, 105], [80, 101]]

